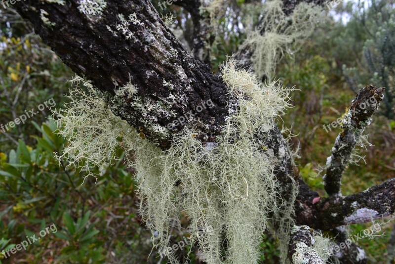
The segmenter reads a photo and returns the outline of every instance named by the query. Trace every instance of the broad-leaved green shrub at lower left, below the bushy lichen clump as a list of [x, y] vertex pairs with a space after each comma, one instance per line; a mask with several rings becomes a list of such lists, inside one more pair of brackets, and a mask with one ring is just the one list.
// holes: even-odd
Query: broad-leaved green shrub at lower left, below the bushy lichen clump
[[[140, 230], [130, 247], [148, 256], [150, 236], [135, 220], [137, 201], [129, 196], [135, 185], [122, 162], [101, 171], [102, 177], [96, 185], [87, 188], [85, 185], [89, 183], [86, 183], [82, 186], [84, 172], [66, 170], [64, 161], [59, 164], [54, 159], [54, 152], [63, 153], [67, 145], [58, 135], [56, 121], [50, 119], [41, 126], [33, 125], [41, 133], [41, 136], [34, 136], [37, 140], [34, 148], [20, 140], [15, 150], [0, 155], [0, 250], [7, 250], [25, 240], [26, 235], [38, 234], [49, 223], [55, 223], [56, 233], [9, 259], [25, 256], [33, 262], [41, 262], [55, 256], [58, 263], [103, 263], [114, 241], [118, 248], [111, 249], [115, 255], [112, 259], [138, 260], [138, 254], [130, 256], [131, 252], [119, 250], [125, 245], [129, 247], [129, 240], [106, 229], [109, 222], [103, 219], [111, 219], [110, 226], [122, 230], [121, 222], [129, 222], [128, 225], [133, 226], [127, 231], [131, 237]], [[122, 151], [117, 155], [123, 156]], [[126, 203], [130, 207], [125, 208]], [[115, 215], [119, 216], [113, 219]]]

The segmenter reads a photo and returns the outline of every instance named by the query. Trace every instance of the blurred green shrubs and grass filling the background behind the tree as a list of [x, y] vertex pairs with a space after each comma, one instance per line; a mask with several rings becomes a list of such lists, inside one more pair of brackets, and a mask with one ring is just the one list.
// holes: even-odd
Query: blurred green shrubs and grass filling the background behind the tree
[[[343, 177], [343, 193], [363, 191], [394, 177], [394, 6], [391, 0], [344, 1], [325, 10], [308, 43], [295, 54], [284, 54], [277, 68], [276, 77], [284, 86], [299, 89], [292, 95], [294, 107], [279, 126], [299, 149], [301, 158], [296, 162], [301, 176], [321, 196], [326, 194], [319, 171], [340, 131], [326, 132], [322, 126], [340, 117], [356, 92], [370, 83], [386, 87], [386, 97], [366, 132], [371, 145], [359, 150], [364, 159], [351, 164]], [[227, 7], [212, 45], [214, 71], [243, 42], [256, 22], [258, 7], [250, 0], [237, 0]], [[174, 4], [166, 8], [158, 11], [176, 16], [171, 28], [188, 46], [192, 28], [188, 12]], [[63, 94], [70, 87], [67, 80], [74, 75], [71, 70], [11, 8], [0, 11], [0, 26], [0, 124], [51, 97], [56, 108], [62, 107]], [[51, 223], [58, 232], [8, 259], [0, 254], [0, 263], [166, 263], [151, 251], [151, 234], [139, 218], [133, 170], [126, 170], [120, 161], [98, 170], [96, 184], [88, 180], [81, 185], [83, 171], [54, 159], [67, 141], [57, 135], [50, 115], [45, 109], [25, 125], [0, 131], [0, 252]], [[350, 226], [350, 232], [356, 234], [369, 225]], [[382, 228], [384, 235], [358, 244], [371, 263], [394, 264], [387, 251], [394, 223]], [[178, 232], [174, 243], [188, 236], [186, 231]], [[263, 237], [260, 263], [278, 263], [276, 237], [269, 233]], [[189, 246], [180, 256], [185, 257], [187, 250]], [[193, 248], [190, 263], [199, 263], [198, 256]]]

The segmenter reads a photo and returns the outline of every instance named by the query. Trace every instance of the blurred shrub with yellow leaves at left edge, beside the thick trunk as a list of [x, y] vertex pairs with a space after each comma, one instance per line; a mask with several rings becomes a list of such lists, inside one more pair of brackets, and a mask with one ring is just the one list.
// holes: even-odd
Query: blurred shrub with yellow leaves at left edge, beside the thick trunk
[[[0, 124], [5, 125], [25, 114], [25, 110], [28, 112], [34, 108], [38, 111], [38, 106], [50, 98], [54, 99], [58, 107], [61, 106], [61, 95], [67, 90], [67, 75], [71, 75], [71, 71], [38, 36], [21, 33], [21, 30], [26, 29], [21, 29], [18, 21], [12, 21], [12, 27], [7, 27], [2, 19], [1, 14]], [[45, 109], [28, 121], [41, 123], [49, 113]], [[32, 143], [34, 140], [29, 137], [30, 131], [34, 131], [31, 122], [15, 126], [6, 131], [6, 135], [0, 129], [2, 150], [8, 151], [15, 147], [18, 139]]]

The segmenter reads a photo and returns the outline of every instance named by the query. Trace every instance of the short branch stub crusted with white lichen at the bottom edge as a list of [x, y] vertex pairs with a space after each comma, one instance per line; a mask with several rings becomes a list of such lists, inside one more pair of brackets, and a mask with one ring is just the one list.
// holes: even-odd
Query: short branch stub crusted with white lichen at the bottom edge
[[288, 247], [288, 258], [293, 264], [324, 264], [312, 248], [316, 243], [314, 231], [307, 226], [294, 226], [291, 232], [291, 239]]

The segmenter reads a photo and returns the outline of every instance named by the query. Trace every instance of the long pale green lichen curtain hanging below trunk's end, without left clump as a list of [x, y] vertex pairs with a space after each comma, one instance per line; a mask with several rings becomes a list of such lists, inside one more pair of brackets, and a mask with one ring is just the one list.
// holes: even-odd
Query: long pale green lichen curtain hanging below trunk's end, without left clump
[[[233, 61], [223, 67], [222, 78], [239, 99], [239, 112], [228, 119], [216, 143], [205, 145], [186, 131], [170, 150], [144, 158], [147, 164], [137, 170], [142, 215], [159, 234], [160, 250], [166, 247], [170, 220], [184, 212], [191, 219], [191, 240], [198, 242], [206, 263], [223, 263], [222, 250], [226, 263], [255, 263], [277, 195], [274, 161], [257, 152], [254, 135], [262, 125], [270, 130], [288, 97], [276, 83], [260, 87], [253, 74], [237, 70]], [[177, 263], [174, 256], [169, 261]]]

